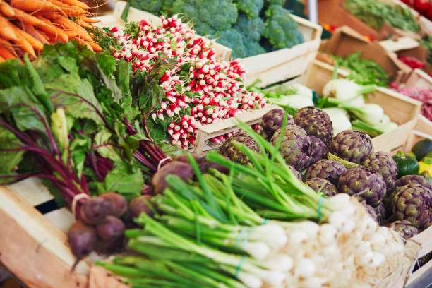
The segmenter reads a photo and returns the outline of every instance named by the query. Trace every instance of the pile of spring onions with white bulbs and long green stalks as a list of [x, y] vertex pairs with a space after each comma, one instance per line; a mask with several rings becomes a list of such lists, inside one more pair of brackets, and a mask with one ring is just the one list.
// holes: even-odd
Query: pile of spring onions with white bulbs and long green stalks
[[273, 146], [241, 128], [260, 152], [232, 145], [253, 166], [212, 151], [205, 158], [225, 171], [201, 174], [202, 158], [188, 155], [189, 181], [168, 175], [168, 188], [152, 198], [154, 218], [143, 213], [136, 220], [143, 229], [126, 231], [138, 255], [98, 264], [133, 287], [368, 287], [406, 260], [400, 236], [378, 227], [354, 198], [325, 198], [296, 179], [283, 137]]

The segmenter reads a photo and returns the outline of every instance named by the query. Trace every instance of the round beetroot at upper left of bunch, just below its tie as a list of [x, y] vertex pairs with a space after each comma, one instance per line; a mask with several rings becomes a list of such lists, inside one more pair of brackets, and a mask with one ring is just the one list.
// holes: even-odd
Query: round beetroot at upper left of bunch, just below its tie
[[81, 219], [90, 225], [99, 224], [109, 212], [107, 200], [100, 197], [93, 197], [84, 201], [80, 209]]

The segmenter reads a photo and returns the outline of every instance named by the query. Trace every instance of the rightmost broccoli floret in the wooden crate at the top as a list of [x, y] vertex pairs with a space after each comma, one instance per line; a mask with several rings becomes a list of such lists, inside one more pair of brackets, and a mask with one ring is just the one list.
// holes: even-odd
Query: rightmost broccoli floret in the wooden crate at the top
[[290, 48], [304, 42], [299, 25], [282, 6], [271, 5], [265, 11], [265, 16], [268, 18], [265, 21], [264, 36], [276, 49]]

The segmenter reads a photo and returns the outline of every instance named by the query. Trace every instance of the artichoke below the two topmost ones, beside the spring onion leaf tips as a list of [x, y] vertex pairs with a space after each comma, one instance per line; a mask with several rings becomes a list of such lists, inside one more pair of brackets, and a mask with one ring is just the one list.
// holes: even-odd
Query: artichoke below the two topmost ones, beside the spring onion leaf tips
[[[270, 142], [276, 145], [281, 129], [278, 129], [273, 134]], [[296, 125], [287, 125], [280, 144], [280, 152], [282, 153], [285, 162], [292, 165], [297, 171], [303, 171], [311, 162], [311, 139], [306, 134], [304, 129]]]

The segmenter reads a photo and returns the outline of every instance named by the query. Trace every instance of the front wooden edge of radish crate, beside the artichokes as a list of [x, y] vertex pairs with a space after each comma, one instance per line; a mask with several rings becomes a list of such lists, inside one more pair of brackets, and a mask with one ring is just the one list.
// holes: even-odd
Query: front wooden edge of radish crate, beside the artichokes
[[253, 124], [259, 123], [261, 119], [263, 119], [265, 113], [275, 108], [280, 107], [277, 105], [267, 105], [262, 109], [251, 110], [239, 116], [214, 121], [212, 124], [199, 125], [193, 152], [202, 154], [204, 152], [204, 147], [210, 138], [238, 130], [239, 127], [236, 126], [237, 120], [243, 121], [248, 126], [251, 126]]

